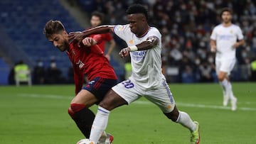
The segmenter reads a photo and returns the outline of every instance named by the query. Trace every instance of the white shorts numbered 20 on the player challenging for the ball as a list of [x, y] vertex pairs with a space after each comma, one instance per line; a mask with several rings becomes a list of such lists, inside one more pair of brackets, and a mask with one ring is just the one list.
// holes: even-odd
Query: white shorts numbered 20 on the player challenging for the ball
[[154, 87], [154, 89], [144, 89], [143, 87], [139, 87], [131, 79], [120, 82], [112, 87], [112, 89], [127, 101], [128, 104], [131, 104], [141, 96], [144, 96], [146, 99], [156, 104], [156, 106], [159, 106], [164, 113], [169, 113], [174, 110], [174, 97], [172, 96], [165, 79], [162, 79], [159, 87]]

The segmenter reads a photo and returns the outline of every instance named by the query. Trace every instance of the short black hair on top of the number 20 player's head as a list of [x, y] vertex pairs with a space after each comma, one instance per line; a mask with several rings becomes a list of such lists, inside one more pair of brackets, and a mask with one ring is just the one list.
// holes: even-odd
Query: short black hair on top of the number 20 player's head
[[133, 4], [126, 11], [127, 14], [142, 13], [148, 19], [148, 11], [142, 4]]

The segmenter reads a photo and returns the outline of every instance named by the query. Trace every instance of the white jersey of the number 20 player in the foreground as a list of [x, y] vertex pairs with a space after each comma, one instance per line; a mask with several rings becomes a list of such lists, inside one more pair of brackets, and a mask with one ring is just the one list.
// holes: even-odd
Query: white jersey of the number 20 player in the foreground
[[157, 87], [161, 83], [161, 79], [165, 79], [161, 72], [161, 33], [159, 30], [150, 27], [144, 37], [138, 38], [131, 32], [129, 24], [127, 24], [115, 26], [114, 33], [119, 38], [122, 38], [128, 47], [142, 43], [151, 36], [159, 38], [159, 43], [154, 48], [129, 52], [132, 63], [132, 76], [130, 79], [133, 79], [134, 82], [145, 89]]

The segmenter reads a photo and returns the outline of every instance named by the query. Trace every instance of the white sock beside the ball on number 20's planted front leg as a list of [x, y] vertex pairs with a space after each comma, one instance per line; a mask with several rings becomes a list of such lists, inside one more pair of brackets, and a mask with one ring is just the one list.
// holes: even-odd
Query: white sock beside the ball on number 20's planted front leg
[[95, 143], [98, 142], [98, 140], [100, 139], [100, 136], [107, 128], [107, 121], [108, 121], [109, 115], [110, 115], [110, 111], [102, 108], [101, 106], [98, 107], [95, 120], [92, 123], [90, 140], [94, 141]]

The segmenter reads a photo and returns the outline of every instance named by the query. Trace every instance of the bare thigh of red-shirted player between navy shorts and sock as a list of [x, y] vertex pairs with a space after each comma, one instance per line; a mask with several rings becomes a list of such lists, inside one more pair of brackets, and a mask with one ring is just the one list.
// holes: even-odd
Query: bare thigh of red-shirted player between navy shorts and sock
[[97, 98], [94, 94], [82, 89], [71, 101], [71, 104], [85, 104], [86, 107], [90, 107], [97, 102]]

